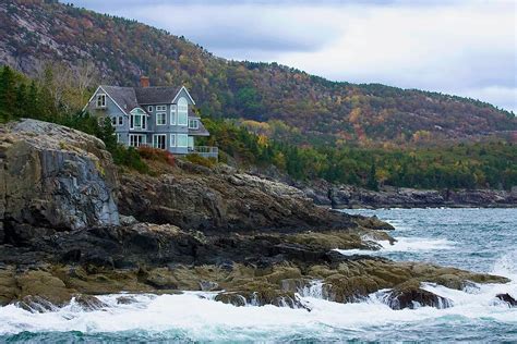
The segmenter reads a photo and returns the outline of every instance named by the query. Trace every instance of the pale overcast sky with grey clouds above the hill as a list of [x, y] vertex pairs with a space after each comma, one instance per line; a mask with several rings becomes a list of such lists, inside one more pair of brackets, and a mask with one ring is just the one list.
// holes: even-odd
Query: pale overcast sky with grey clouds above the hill
[[517, 112], [517, 0], [75, 0], [227, 59], [468, 96]]

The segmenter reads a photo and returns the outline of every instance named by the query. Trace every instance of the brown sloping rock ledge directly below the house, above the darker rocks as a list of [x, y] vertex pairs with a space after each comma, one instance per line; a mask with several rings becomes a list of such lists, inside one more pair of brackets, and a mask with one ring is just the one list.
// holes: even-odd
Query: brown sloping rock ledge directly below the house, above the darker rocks
[[229, 167], [188, 162], [159, 176], [122, 173], [119, 209], [140, 221], [200, 231], [328, 230], [354, 217], [316, 207], [301, 191]]

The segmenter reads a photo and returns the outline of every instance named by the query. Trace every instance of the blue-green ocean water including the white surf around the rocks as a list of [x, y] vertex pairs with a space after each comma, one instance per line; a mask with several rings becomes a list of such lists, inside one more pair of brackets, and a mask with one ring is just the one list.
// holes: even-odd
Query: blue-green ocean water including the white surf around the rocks
[[347, 212], [376, 214], [396, 228], [392, 233], [398, 239], [395, 245], [381, 243], [383, 249], [366, 254], [491, 272], [512, 282], [465, 291], [424, 284], [454, 302], [447, 309], [392, 310], [382, 302], [382, 292], [361, 303], [332, 303], [321, 298], [317, 281], [300, 291], [311, 311], [235, 307], [213, 300], [213, 293], [194, 292], [135, 295], [136, 302], [130, 305], [118, 305], [119, 295], [104, 295], [100, 298], [108, 307], [94, 311], [85, 311], [74, 302], [45, 314], [10, 305], [0, 308], [0, 342], [517, 342], [517, 308], [494, 297], [509, 293], [517, 298], [517, 209]]

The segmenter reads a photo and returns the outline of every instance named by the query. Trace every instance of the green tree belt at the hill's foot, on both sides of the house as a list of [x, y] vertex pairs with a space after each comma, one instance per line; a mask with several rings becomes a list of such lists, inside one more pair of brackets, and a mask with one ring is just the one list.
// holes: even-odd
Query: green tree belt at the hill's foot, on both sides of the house
[[[148, 171], [139, 151], [117, 145], [109, 121], [98, 123], [81, 108], [97, 78], [86, 70], [46, 65], [35, 78], [0, 69], [0, 121], [34, 118], [101, 138], [116, 163]], [[59, 71], [60, 75], [57, 76]], [[64, 77], [63, 75], [69, 75]], [[81, 84], [81, 85], [77, 85]], [[273, 139], [249, 123], [203, 115], [211, 136], [201, 145], [218, 146], [221, 161], [249, 168], [275, 167], [294, 180], [324, 179], [376, 189], [382, 185], [417, 188], [510, 188], [517, 185], [517, 146], [506, 142], [425, 147], [297, 145]], [[276, 124], [278, 131], [286, 130]]]

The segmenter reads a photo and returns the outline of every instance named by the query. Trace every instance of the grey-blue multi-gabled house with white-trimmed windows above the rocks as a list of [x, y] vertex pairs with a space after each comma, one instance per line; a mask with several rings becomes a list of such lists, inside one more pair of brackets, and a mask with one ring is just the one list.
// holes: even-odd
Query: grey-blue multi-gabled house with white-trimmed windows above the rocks
[[99, 120], [109, 118], [117, 142], [125, 146], [217, 158], [217, 147], [195, 146], [196, 137], [209, 133], [193, 113], [194, 105], [184, 86], [151, 87], [142, 76], [141, 87], [98, 86], [84, 110]]

